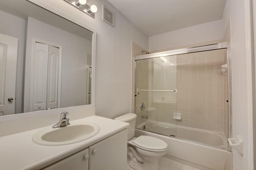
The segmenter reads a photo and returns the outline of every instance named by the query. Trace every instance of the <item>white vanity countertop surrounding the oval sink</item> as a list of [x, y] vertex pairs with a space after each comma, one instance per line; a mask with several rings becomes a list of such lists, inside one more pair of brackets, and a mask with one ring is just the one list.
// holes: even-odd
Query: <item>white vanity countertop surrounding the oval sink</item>
[[95, 123], [100, 127], [100, 131], [85, 141], [61, 146], [38, 145], [32, 141], [32, 136], [44, 127], [0, 137], [0, 169], [38, 170], [129, 127], [128, 123], [100, 116], [75, 121]]

